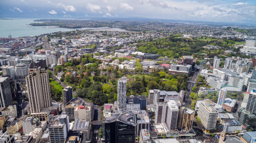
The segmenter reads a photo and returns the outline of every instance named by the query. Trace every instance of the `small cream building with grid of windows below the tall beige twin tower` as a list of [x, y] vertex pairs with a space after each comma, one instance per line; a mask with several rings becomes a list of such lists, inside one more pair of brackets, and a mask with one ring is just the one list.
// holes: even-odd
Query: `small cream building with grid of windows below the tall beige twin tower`
[[39, 125], [39, 119], [27, 117], [22, 121], [23, 133], [29, 135]]

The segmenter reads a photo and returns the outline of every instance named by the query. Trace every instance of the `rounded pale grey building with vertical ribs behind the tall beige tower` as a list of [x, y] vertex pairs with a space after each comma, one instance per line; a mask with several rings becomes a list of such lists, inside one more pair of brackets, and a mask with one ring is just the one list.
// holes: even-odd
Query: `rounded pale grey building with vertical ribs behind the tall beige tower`
[[17, 82], [26, 82], [26, 76], [29, 74], [28, 66], [24, 63], [19, 63], [15, 66]]

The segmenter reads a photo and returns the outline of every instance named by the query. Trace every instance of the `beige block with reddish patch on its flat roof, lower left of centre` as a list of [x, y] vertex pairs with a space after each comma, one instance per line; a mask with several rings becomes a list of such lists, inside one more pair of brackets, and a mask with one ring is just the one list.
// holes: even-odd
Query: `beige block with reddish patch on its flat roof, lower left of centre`
[[74, 109], [75, 120], [77, 118], [85, 118], [88, 122], [93, 120], [94, 106], [79, 106]]

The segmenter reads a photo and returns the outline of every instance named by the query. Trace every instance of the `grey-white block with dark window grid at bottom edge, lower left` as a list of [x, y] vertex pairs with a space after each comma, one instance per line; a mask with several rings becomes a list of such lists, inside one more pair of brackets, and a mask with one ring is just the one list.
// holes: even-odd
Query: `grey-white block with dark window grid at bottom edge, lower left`
[[[68, 120], [68, 116], [67, 120]], [[69, 123], [69, 121], [67, 122]], [[65, 142], [68, 133], [69, 133], [69, 124], [61, 122], [60, 116], [54, 116], [51, 122], [48, 125], [49, 128], [49, 139], [52, 143], [63, 143]]]

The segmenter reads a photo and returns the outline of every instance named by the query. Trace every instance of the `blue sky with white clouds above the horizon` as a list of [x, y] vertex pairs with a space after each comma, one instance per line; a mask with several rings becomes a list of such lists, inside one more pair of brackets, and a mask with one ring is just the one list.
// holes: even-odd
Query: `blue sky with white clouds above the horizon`
[[1, 0], [0, 17], [144, 17], [256, 24], [256, 0]]

